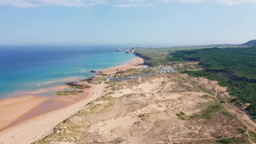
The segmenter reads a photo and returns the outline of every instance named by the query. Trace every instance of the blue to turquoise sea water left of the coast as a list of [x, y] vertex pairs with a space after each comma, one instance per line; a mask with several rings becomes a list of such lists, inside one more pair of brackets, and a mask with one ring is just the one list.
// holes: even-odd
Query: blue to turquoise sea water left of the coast
[[124, 64], [133, 54], [114, 47], [0, 48], [0, 98], [20, 91], [63, 85], [67, 78], [90, 77], [91, 70]]

